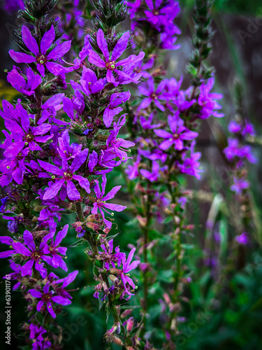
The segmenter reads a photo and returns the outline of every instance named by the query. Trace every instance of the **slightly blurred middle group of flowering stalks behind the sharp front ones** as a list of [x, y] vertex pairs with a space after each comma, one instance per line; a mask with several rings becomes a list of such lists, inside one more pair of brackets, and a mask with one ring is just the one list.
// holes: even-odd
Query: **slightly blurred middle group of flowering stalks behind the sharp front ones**
[[[126, 169], [136, 218], [143, 234], [139, 241], [143, 255], [141, 306], [145, 321], [148, 320], [145, 330], [149, 337], [152, 332], [147, 323], [152, 328], [153, 322], [150, 319], [153, 307], [150, 290], [158, 293], [163, 306], [161, 312], [166, 316], [161, 316], [164, 333], [159, 332], [153, 338], [157, 341], [154, 344], [162, 342], [165, 349], [174, 349], [175, 336], [179, 334], [177, 322], [183, 300], [182, 284], [191, 281], [182, 265], [183, 235], [190, 232], [190, 227], [186, 225], [187, 197], [181, 174], [200, 178], [198, 160], [201, 154], [194, 151], [200, 120], [223, 116], [217, 111], [221, 108], [217, 103], [221, 95], [211, 92], [214, 85], [212, 71], [203, 64], [211, 50], [210, 3], [196, 1], [194, 53], [188, 66], [192, 85], [187, 90], [181, 88], [182, 78], [164, 78], [165, 72], [161, 68], [161, 50], [179, 48], [175, 42], [180, 30], [173, 22], [180, 10], [177, 1], [136, 1], [129, 3], [129, 7], [136, 49], [143, 48], [146, 52], [143, 64], [136, 67], [144, 78], [138, 85], [140, 98], [136, 107], [129, 106], [127, 125], [130, 134], [136, 135], [137, 147], [133, 165]], [[161, 232], [156, 230], [157, 227]], [[170, 233], [167, 235], [166, 232]], [[165, 260], [155, 258], [159, 244], [166, 245]], [[156, 278], [160, 263], [166, 265], [169, 279], [163, 279], [165, 273]], [[173, 271], [173, 276], [168, 274], [168, 269]]]

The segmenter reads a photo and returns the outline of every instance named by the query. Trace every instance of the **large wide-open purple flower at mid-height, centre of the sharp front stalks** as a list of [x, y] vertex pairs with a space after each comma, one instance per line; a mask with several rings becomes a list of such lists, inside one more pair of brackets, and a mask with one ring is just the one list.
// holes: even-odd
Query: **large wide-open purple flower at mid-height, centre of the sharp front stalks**
[[45, 190], [43, 200], [50, 200], [55, 195], [57, 195], [64, 183], [66, 183], [66, 188], [65, 186], [63, 186], [60, 193], [60, 197], [65, 198], [66, 195], [68, 195], [69, 200], [80, 200], [80, 193], [76, 189], [73, 180], [78, 181], [79, 185], [82, 188], [85, 188], [87, 193], [90, 193], [88, 179], [85, 179], [85, 177], [75, 174], [75, 172], [87, 160], [87, 155], [88, 149], [86, 148], [73, 159], [71, 165], [68, 165], [68, 161], [63, 159], [61, 169], [48, 162], [38, 160], [39, 164], [43, 169], [45, 169], [47, 172], [54, 174], [52, 176], [52, 179], [54, 179], [54, 183], [52, 183], [52, 185], [47, 190]]

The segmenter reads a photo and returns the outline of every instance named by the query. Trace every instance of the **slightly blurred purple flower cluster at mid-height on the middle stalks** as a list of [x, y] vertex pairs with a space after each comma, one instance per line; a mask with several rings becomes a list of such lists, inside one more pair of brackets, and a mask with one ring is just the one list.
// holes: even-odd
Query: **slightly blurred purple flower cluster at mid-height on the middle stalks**
[[[206, 84], [203, 83], [199, 87], [198, 99], [196, 99], [191, 98], [193, 87], [181, 90], [182, 79], [179, 81], [175, 78], [163, 79], [157, 87], [154, 87], [154, 78], [149, 76], [145, 83], [140, 83], [138, 90], [142, 100], [135, 116], [135, 125], [140, 135], [137, 140], [138, 157], [126, 170], [129, 179], [136, 179], [142, 175], [151, 179], [150, 181], [157, 181], [165, 171], [165, 166], [170, 164], [174, 150], [180, 154], [177, 160], [173, 160], [175, 172], [200, 178], [198, 160], [201, 155], [194, 152], [194, 139], [198, 136], [198, 132], [196, 125], [192, 124], [187, 116], [192, 108], [196, 110], [198, 120], [203, 116], [205, 118], [224, 116], [217, 112], [217, 109], [221, 108], [217, 104], [217, 99], [220, 99], [221, 95], [210, 92], [213, 84], [214, 78], [210, 78]], [[158, 113], [152, 111], [154, 105], [159, 109]], [[165, 121], [166, 117], [168, 123]], [[157, 123], [159, 121], [161, 123]], [[147, 162], [145, 158], [151, 161], [151, 169], [143, 169]], [[150, 174], [154, 176], [150, 177]]]

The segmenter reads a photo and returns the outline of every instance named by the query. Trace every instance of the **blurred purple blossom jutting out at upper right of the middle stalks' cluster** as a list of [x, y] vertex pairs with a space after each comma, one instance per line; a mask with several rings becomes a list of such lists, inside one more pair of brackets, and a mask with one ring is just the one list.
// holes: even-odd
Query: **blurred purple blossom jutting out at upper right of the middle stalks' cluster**
[[199, 115], [199, 118], [206, 119], [210, 116], [216, 117], [216, 118], [222, 118], [224, 117], [223, 113], [218, 113], [215, 111], [216, 109], [221, 109], [221, 106], [215, 101], [215, 99], [221, 99], [223, 97], [222, 94], [215, 94], [211, 93], [210, 90], [212, 90], [212, 87], [214, 85], [214, 78], [210, 78], [208, 80], [208, 83], [202, 84], [199, 87], [200, 94], [198, 97], [198, 104], [201, 106], [201, 114]]

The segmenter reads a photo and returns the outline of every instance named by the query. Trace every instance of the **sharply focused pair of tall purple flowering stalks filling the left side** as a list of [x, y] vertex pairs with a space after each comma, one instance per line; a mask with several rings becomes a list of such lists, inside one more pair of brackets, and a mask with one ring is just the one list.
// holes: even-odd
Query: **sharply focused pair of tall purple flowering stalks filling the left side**
[[[10, 236], [1, 237], [10, 249], [1, 258], [10, 259], [12, 278], [29, 302], [29, 323], [25, 335], [33, 349], [61, 348], [61, 337], [54, 332], [54, 319], [61, 305], [71, 304], [66, 286], [77, 276], [64, 279], [49, 267], [67, 271], [61, 246], [69, 226], [56, 233], [61, 216], [75, 214], [71, 223], [78, 241], [87, 243], [85, 252], [94, 265], [94, 297], [105, 303], [113, 325], [106, 332], [107, 342], [140, 349], [130, 311], [122, 312], [136, 285], [129, 272], [135, 248], [126, 257], [113, 246], [108, 235], [114, 211], [126, 207], [108, 202], [121, 186], [105, 189], [106, 174], [129, 159], [133, 142], [118, 137], [125, 123], [123, 104], [130, 98], [123, 85], [138, 83], [141, 73], [134, 68], [144, 53], [128, 56], [129, 31], [115, 27], [128, 15], [121, 0], [94, 2], [93, 30], [73, 63], [64, 66], [62, 57], [71, 41], [59, 41], [59, 22], [48, 18], [56, 1], [25, 1], [20, 11], [24, 25], [17, 31], [23, 52], [10, 50], [16, 63], [8, 81], [21, 93], [15, 104], [3, 101], [1, 186], [13, 186], [3, 197], [1, 213], [8, 219]], [[28, 25], [28, 26], [27, 26]], [[125, 58], [124, 58], [125, 55]], [[127, 56], [127, 57], [126, 57]], [[70, 83], [66, 77], [70, 74]], [[71, 91], [68, 96], [63, 90]], [[99, 183], [99, 179], [101, 179]], [[124, 306], [124, 309], [126, 306]], [[56, 328], [57, 330], [59, 328]]]

